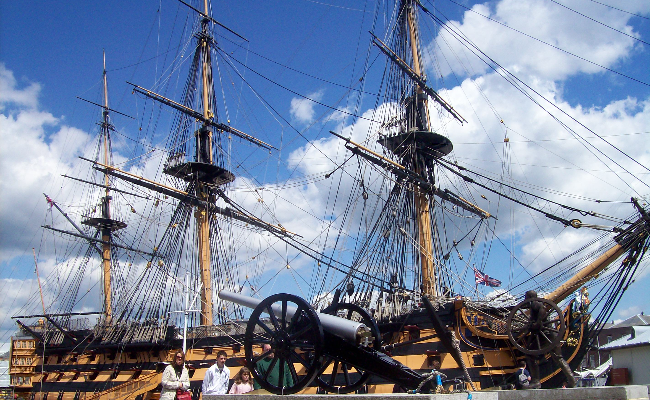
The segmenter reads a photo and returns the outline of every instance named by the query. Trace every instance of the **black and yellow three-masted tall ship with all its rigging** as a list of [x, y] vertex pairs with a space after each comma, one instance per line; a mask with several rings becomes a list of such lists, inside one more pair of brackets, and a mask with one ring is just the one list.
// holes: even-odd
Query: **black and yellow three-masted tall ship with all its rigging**
[[[433, 4], [368, 6], [366, 48], [336, 104], [251, 66], [242, 54], [300, 74], [247, 53], [207, 0], [179, 7], [191, 34], [169, 68], [153, 85], [128, 83], [138, 99], [130, 112], [112, 107], [104, 66], [102, 99], [89, 105], [101, 117], [85, 169], [66, 174], [60, 193], [69, 197], [44, 194], [51, 223], [43, 229], [65, 256], [14, 315], [20, 397], [157, 398], [164, 366], [184, 350], [198, 399], [216, 353], [227, 352], [234, 376], [250, 363], [251, 319], [266, 321], [220, 293], [296, 295], [314, 311], [362, 321], [376, 352], [419, 373], [437, 367], [445, 391], [510, 388], [521, 360], [543, 388], [574, 383], [572, 370], [647, 266], [647, 175], [628, 165], [647, 167], [613, 160], [620, 150], [598, 130], [483, 53]], [[431, 32], [437, 42], [425, 39]], [[443, 42], [476, 57], [452, 62], [492, 68], [491, 79], [503, 80], [513, 102], [538, 107], [539, 120], [508, 120], [509, 105], [491, 102], [481, 82], [446, 88], [435, 78], [444, 77]], [[254, 80], [322, 106], [323, 117], [299, 127]], [[174, 85], [183, 90], [170, 96]], [[277, 126], [258, 125], [251, 99]], [[129, 152], [114, 151], [119, 118], [139, 126]], [[522, 124], [544, 124], [558, 140], [515, 152], [513, 142], [526, 140]], [[600, 182], [579, 165], [585, 158], [553, 147], [566, 137], [624, 171], [627, 197], [590, 197], [541, 168], [541, 181], [557, 185], [540, 186], [543, 174], [520, 159], [529, 152]], [[472, 149], [487, 140], [496, 168]], [[259, 352], [269, 339], [251, 332], [262, 338]], [[296, 354], [287, 359], [293, 382], [316, 373], [287, 393], [404, 390], [345, 360]]]

